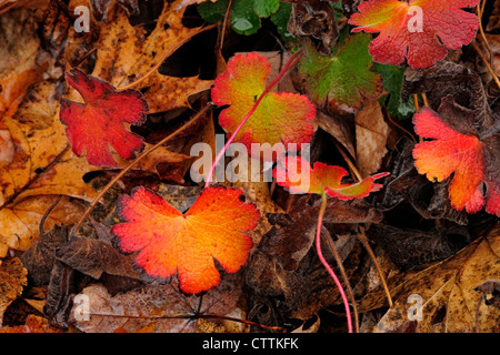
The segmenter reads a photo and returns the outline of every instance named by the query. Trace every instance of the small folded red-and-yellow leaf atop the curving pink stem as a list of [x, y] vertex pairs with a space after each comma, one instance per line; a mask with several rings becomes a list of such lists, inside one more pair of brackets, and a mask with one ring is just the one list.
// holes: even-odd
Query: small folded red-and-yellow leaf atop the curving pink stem
[[[370, 192], [380, 190], [382, 185], [374, 183], [374, 181], [389, 175], [389, 173], [379, 173], [358, 183], [342, 184], [342, 179], [348, 175], [348, 172], [341, 166], [316, 162], [310, 170], [310, 174], [304, 174], [304, 169], [311, 169], [307, 160], [301, 156], [287, 156], [278, 163], [273, 176], [277, 178], [279, 185], [293, 193], [322, 195], [326, 192], [328, 195], [340, 200], [351, 200], [366, 197]], [[302, 180], [301, 176], [306, 176], [306, 179]]]

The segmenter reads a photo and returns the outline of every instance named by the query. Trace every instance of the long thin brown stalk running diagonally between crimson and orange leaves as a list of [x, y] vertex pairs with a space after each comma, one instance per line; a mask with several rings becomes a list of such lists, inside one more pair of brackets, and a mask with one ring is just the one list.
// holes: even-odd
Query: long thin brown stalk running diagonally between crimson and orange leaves
[[176, 130], [173, 133], [171, 133], [170, 135], [166, 136], [164, 139], [162, 139], [161, 141], [159, 141], [157, 144], [152, 145], [151, 148], [149, 148], [147, 151], [142, 152], [142, 154], [140, 154], [139, 156], [137, 156], [132, 162], [130, 162], [129, 165], [127, 165], [124, 169], [122, 169], [100, 192], [99, 194], [96, 196], [96, 199], [93, 199], [92, 203], [87, 207], [87, 211], [83, 213], [83, 215], [80, 217], [80, 220], [78, 221], [78, 223], [73, 226], [73, 229], [71, 230], [70, 236], [74, 235], [78, 230], [80, 229], [81, 224], [83, 223], [83, 221], [89, 216], [90, 212], [92, 212], [93, 207], [96, 207], [96, 205], [98, 204], [98, 202], [102, 199], [102, 196], [104, 195], [106, 192], [108, 192], [108, 190], [114, 185], [114, 183], [120, 180], [124, 174], [127, 174], [127, 172], [132, 169], [133, 166], [136, 166], [142, 159], [144, 159], [148, 154], [150, 154], [152, 151], [157, 150], [158, 148], [160, 148], [161, 145], [163, 145], [164, 143], [167, 143], [168, 141], [170, 141], [172, 138], [174, 138], [176, 135], [178, 135], [179, 133], [181, 133], [182, 131], [184, 131], [187, 128], [191, 126], [194, 122], [197, 122], [209, 109], [211, 109], [212, 106], [210, 104], [207, 104], [200, 112], [198, 112], [189, 122], [187, 122], [184, 125], [182, 125], [181, 128], [179, 128], [178, 130]]

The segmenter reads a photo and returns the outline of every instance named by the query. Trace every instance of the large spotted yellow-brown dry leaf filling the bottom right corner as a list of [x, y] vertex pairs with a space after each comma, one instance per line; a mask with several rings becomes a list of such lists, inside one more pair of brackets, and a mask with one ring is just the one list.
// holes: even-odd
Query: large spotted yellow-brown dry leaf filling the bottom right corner
[[[374, 332], [393, 332], [410, 317], [418, 316], [419, 333], [498, 333], [500, 308], [487, 304], [477, 288], [500, 275], [500, 229], [480, 237], [454, 256], [420, 271], [400, 273], [389, 278], [393, 307]], [[421, 297], [421, 298], [420, 298]], [[383, 306], [383, 293], [370, 293], [361, 300], [360, 311]]]

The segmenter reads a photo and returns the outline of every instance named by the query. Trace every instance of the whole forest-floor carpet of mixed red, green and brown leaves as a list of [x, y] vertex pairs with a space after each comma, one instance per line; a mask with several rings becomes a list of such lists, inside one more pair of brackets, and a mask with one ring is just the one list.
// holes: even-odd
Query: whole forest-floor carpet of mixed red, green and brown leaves
[[[496, 9], [11, 2], [0, 332], [500, 331]], [[80, 4], [91, 32], [74, 31]], [[410, 7], [423, 31], [404, 30]], [[190, 150], [214, 159], [217, 134], [310, 150], [267, 172], [249, 154], [203, 187]], [[292, 161], [310, 166], [307, 189]]]

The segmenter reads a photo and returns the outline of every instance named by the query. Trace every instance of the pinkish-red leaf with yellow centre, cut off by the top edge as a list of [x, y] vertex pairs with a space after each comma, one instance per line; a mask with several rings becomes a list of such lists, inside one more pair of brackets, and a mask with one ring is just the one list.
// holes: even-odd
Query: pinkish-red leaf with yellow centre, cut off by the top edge
[[479, 0], [370, 0], [358, 7], [349, 23], [353, 31], [380, 34], [370, 43], [370, 54], [380, 63], [427, 68], [447, 55], [448, 49], [469, 44], [479, 27], [478, 17], [461, 10]]

